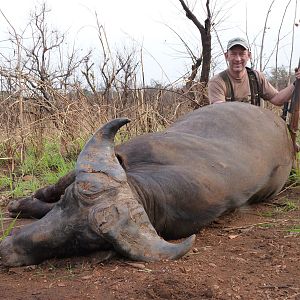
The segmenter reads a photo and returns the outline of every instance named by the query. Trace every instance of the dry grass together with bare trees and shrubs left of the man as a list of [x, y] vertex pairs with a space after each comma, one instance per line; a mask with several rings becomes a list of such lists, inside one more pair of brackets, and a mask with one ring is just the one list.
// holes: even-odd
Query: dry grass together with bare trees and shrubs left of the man
[[75, 140], [125, 116], [132, 119], [121, 136], [127, 139], [161, 130], [203, 98], [196, 84], [191, 96], [180, 86], [139, 82], [143, 65], [137, 51], [113, 54], [99, 23], [102, 63], [97, 67], [91, 52], [80, 56], [74, 48], [64, 48], [65, 36], [49, 27], [47, 13], [45, 5], [33, 13], [30, 41], [7, 20], [11, 53], [0, 66], [0, 158], [12, 169], [16, 157], [24, 159], [28, 144], [42, 152], [43, 141], [55, 137], [62, 153], [68, 153]]

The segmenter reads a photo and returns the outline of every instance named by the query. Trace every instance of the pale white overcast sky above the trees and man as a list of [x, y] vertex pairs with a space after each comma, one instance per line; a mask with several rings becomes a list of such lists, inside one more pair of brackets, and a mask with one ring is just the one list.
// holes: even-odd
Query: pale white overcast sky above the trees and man
[[[195, 7], [194, 13], [201, 23], [205, 19], [205, 2], [188, 1], [191, 7]], [[255, 45], [259, 46], [261, 43], [262, 29], [271, 2], [272, 0], [211, 1], [213, 13], [218, 12], [216, 21], [223, 19], [216, 27], [223, 47], [226, 47], [231, 37], [245, 36], [247, 32], [255, 52]], [[296, 0], [291, 0], [282, 28], [281, 36], [285, 38], [280, 43], [280, 65], [289, 64], [295, 2]], [[16, 29], [21, 29], [28, 23], [30, 11], [33, 11], [35, 6], [40, 6], [40, 3], [41, 1], [36, 0], [1, 1], [0, 9]], [[59, 31], [67, 32], [68, 40], [75, 39], [80, 48], [98, 47], [95, 12], [101, 25], [105, 27], [112, 48], [125, 44], [143, 47], [147, 80], [172, 82], [189, 70], [190, 59], [172, 30], [184, 38], [192, 49], [196, 51], [197, 47], [199, 48], [199, 33], [185, 17], [178, 0], [48, 0], [46, 3], [51, 9], [49, 22]], [[289, 0], [275, 0], [270, 12], [269, 29], [266, 32], [266, 56], [269, 56], [274, 48], [282, 15], [288, 3]], [[0, 47], [1, 40], [7, 37], [7, 28], [7, 23], [0, 16]], [[295, 29], [294, 65], [300, 56], [300, 26]], [[213, 55], [217, 57], [220, 53], [221, 48], [215, 40]], [[273, 59], [273, 65], [274, 61]], [[224, 67], [223, 57], [219, 56], [216, 62], [216, 70]]]

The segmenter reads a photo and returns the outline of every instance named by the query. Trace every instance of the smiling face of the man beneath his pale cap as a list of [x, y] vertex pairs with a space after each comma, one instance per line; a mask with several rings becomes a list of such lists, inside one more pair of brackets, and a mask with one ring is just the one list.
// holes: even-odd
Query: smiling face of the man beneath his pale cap
[[225, 57], [232, 72], [241, 72], [251, 58], [251, 53], [244, 47], [236, 45], [225, 53]]

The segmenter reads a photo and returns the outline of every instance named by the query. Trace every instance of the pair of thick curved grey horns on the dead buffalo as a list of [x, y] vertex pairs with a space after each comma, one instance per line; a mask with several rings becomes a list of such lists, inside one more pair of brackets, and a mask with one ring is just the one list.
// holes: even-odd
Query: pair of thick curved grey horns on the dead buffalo
[[76, 193], [91, 199], [92, 230], [118, 252], [143, 261], [179, 258], [191, 249], [195, 236], [178, 244], [159, 237], [116, 158], [114, 137], [128, 122], [125, 118], [115, 119], [87, 142], [77, 160]]

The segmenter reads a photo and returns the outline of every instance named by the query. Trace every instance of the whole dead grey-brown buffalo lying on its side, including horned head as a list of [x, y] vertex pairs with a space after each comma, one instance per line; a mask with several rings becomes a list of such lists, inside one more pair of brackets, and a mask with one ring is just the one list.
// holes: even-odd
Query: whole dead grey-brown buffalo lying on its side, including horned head
[[[291, 171], [286, 125], [266, 109], [214, 104], [161, 133], [114, 147], [127, 122], [115, 119], [98, 130], [75, 172], [12, 202], [12, 213], [48, 213], [3, 240], [5, 265], [112, 248], [134, 260], [179, 258], [202, 226], [275, 195]], [[181, 243], [165, 241], [188, 236]]]

